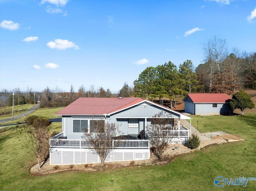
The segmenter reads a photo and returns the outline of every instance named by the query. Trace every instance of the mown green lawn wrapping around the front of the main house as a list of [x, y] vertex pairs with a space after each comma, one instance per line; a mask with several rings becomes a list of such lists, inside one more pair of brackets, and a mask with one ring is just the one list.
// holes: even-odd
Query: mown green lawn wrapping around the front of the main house
[[[256, 181], [246, 188], [214, 185], [217, 176], [256, 176], [256, 113], [240, 116], [193, 116], [199, 128], [226, 131], [245, 140], [210, 146], [186, 154], [162, 166], [133, 167], [106, 172], [69, 171], [44, 176], [30, 175], [36, 163], [24, 143], [24, 132], [12, 127], [0, 133], [0, 190], [256, 190]], [[200, 123], [199, 123], [200, 122]], [[197, 124], [197, 123], [196, 123]], [[60, 129], [61, 124], [55, 126]], [[196, 126], [195, 126], [196, 127]], [[54, 127], [53, 127], [54, 128]], [[200, 130], [200, 129], [199, 129]], [[201, 130], [202, 132], [202, 130]]]

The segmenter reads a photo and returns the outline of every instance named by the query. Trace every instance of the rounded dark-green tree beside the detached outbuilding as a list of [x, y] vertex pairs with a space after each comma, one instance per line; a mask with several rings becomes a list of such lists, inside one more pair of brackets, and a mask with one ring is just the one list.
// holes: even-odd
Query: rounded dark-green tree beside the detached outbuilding
[[230, 106], [232, 110], [235, 110], [236, 108], [240, 109], [241, 115], [244, 116], [244, 109], [252, 109], [255, 107], [255, 104], [252, 101], [252, 97], [248, 95], [244, 90], [241, 90], [232, 96]]

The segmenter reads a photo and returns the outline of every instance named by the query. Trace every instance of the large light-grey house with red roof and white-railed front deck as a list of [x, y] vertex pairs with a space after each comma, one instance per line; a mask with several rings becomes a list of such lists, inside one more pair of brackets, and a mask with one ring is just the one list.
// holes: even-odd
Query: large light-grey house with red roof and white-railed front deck
[[78, 98], [55, 114], [62, 116], [62, 132], [50, 138], [50, 164], [100, 162], [98, 154], [82, 136], [84, 132], [93, 133], [94, 124], [106, 122], [120, 124], [122, 135], [129, 140], [115, 140], [126, 144], [114, 148], [105, 161], [149, 159], [150, 140], [137, 136], [142, 130], [147, 133], [150, 118], [159, 112], [166, 112], [173, 119], [168, 136], [174, 142], [185, 142], [190, 130], [180, 124], [180, 119], [190, 118], [170, 108], [143, 98]]

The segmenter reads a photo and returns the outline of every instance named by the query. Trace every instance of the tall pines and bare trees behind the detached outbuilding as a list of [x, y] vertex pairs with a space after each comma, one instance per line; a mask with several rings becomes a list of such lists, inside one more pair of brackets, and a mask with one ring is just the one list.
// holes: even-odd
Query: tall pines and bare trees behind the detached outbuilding
[[[177, 68], [171, 61], [147, 67], [134, 81], [134, 96], [154, 100], [172, 99], [186, 93], [226, 93], [256, 89], [256, 52], [233, 48], [228, 52], [225, 39], [214, 36], [202, 44], [204, 63], [194, 69], [191, 60]], [[171, 107], [171, 105], [170, 105]]]

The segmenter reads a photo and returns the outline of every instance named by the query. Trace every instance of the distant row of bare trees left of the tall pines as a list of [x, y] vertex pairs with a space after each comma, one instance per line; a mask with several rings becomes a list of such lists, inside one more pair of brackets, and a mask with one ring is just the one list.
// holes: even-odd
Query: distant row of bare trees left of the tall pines
[[118, 94], [112, 94], [110, 89], [105, 90], [103, 87], [96, 89], [94, 85], [90, 85], [87, 91], [84, 85], [81, 85], [78, 92], [74, 91], [73, 85], [70, 86], [69, 92], [64, 92], [58, 87], [53, 90], [46, 87], [42, 92], [33, 92], [32, 88], [27, 87], [26, 93], [22, 93], [20, 88], [16, 88], [14, 91], [3, 89], [0, 96], [0, 106], [4, 108], [12, 106], [12, 100], [14, 100], [14, 105], [36, 104], [40, 102], [40, 107], [61, 107], [67, 106], [80, 97], [130, 97], [133, 96], [133, 88], [125, 82]]

